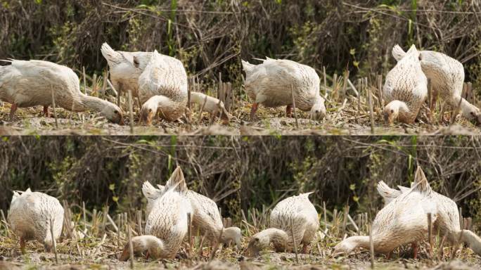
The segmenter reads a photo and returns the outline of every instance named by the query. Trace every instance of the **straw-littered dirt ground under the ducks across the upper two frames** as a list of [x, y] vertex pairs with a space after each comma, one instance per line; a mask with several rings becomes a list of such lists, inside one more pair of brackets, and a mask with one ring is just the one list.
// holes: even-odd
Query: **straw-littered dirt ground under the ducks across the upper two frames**
[[[440, 123], [428, 124], [420, 117], [415, 124], [396, 124], [388, 127], [383, 124], [380, 112], [375, 113], [374, 133], [371, 132], [370, 117], [367, 113], [357, 115], [352, 106], [333, 109], [322, 121], [309, 119], [304, 112], [297, 112], [295, 117], [286, 117], [285, 108], [264, 108], [261, 106], [254, 121], [250, 121], [250, 104], [242, 106], [231, 113], [231, 122], [222, 124], [217, 118], [211, 121], [210, 115], [203, 113], [200, 119], [198, 111], [193, 111], [190, 120], [182, 117], [176, 122], [154, 120], [152, 126], [134, 124], [134, 132], [128, 124], [129, 117], [124, 115], [125, 125], [120, 126], [105, 120], [96, 113], [70, 113], [57, 109], [57, 124], [53, 117], [41, 115], [41, 108], [21, 108], [12, 122], [8, 119], [10, 105], [0, 105], [0, 135], [480, 135], [481, 127], [461, 116], [449, 124], [450, 113], [443, 116]], [[51, 113], [51, 115], [53, 115]], [[134, 122], [138, 123], [138, 111], [134, 113]]]

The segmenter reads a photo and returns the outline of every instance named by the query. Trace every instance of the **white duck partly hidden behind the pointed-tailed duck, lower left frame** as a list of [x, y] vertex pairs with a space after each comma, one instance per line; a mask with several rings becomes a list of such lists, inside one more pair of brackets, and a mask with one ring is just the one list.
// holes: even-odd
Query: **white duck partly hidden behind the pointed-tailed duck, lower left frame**
[[[147, 198], [147, 216], [155, 200], [162, 196], [164, 191], [164, 186], [158, 185], [158, 188], [154, 188], [148, 181], [143, 183], [142, 193]], [[193, 208], [192, 224], [195, 229], [199, 229], [202, 235], [207, 233], [207, 240], [212, 244], [217, 243], [222, 232], [220, 239], [222, 243], [234, 243], [238, 250], [241, 249], [241, 229], [238, 227], [224, 228], [219, 208], [213, 200], [193, 191], [188, 191], [186, 196]]]

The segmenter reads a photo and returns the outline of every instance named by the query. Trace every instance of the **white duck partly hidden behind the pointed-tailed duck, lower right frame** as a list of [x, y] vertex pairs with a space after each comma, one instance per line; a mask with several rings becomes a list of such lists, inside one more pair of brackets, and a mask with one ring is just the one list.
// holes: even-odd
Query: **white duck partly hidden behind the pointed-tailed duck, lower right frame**
[[[411, 185], [413, 187], [413, 185]], [[388, 204], [402, 193], [409, 192], [411, 188], [398, 186], [399, 190], [390, 188], [383, 181], [378, 183], [378, 193], [384, 198], [385, 203]], [[458, 206], [453, 200], [447, 198], [440, 193], [432, 191], [431, 198], [437, 207], [437, 220], [433, 223], [434, 231], [439, 229], [440, 236], [447, 236], [447, 242], [451, 245], [457, 243], [461, 235], [461, 226], [459, 224]], [[472, 231], [463, 230], [461, 241], [470, 245], [478, 255], [481, 255], [481, 239]], [[416, 257], [416, 249], [415, 257]]]

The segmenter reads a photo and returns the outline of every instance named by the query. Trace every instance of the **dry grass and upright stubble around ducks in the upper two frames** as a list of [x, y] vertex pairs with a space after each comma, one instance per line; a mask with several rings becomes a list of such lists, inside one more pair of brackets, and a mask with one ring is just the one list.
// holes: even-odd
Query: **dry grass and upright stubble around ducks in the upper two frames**
[[[341, 79], [340, 79], [341, 80]], [[212, 84], [210, 84], [212, 85]], [[441, 110], [444, 107], [441, 101], [437, 101], [435, 110], [431, 113], [425, 106], [421, 109], [418, 120], [415, 124], [395, 124], [388, 127], [384, 124], [382, 107], [379, 103], [378, 90], [376, 86], [370, 85], [373, 91], [373, 120], [374, 129], [371, 130], [371, 115], [367, 91], [361, 92], [361, 98], [354, 94], [339, 96], [339, 81], [333, 87], [327, 87], [328, 99], [326, 108], [328, 115], [322, 121], [309, 119], [309, 114], [297, 110], [299, 124], [296, 127], [293, 117], [286, 117], [285, 108], [264, 108], [260, 106], [254, 121], [250, 121], [250, 102], [242, 98], [242, 89], [233, 90], [233, 100], [231, 105], [231, 122], [223, 125], [219, 117], [212, 121], [211, 115], [203, 112], [199, 117], [200, 106], [194, 105], [189, 116], [181, 117], [176, 122], [166, 122], [164, 120], [154, 120], [150, 127], [134, 124], [134, 134], [136, 135], [162, 135], [162, 134], [184, 134], [184, 135], [370, 135], [370, 134], [481, 134], [480, 127], [472, 123], [461, 115], [456, 116], [453, 124], [450, 123], [452, 112], [444, 110], [441, 117]], [[198, 85], [192, 86], [194, 89], [201, 89]], [[208, 86], [206, 85], [205, 88]], [[349, 87], [347, 87], [349, 90]], [[345, 91], [344, 91], [345, 92]], [[207, 90], [207, 94], [217, 96], [217, 89]], [[335, 98], [331, 98], [335, 97]], [[114, 97], [108, 96], [108, 100], [114, 102]], [[20, 109], [16, 113], [16, 120], [8, 122], [10, 105], [4, 103], [0, 106], [0, 134], [82, 134], [82, 135], [128, 135], [132, 134], [129, 129], [129, 113], [126, 98], [121, 99], [124, 108], [125, 126], [111, 124], [97, 113], [71, 113], [68, 110], [58, 109], [58, 128], [56, 128], [53, 118], [41, 116], [40, 108]], [[360, 106], [359, 106], [360, 101]], [[480, 104], [477, 104], [478, 106]], [[360, 110], [359, 110], [360, 109]], [[51, 109], [52, 110], [52, 109]], [[139, 122], [139, 108], [134, 108], [134, 122]]]

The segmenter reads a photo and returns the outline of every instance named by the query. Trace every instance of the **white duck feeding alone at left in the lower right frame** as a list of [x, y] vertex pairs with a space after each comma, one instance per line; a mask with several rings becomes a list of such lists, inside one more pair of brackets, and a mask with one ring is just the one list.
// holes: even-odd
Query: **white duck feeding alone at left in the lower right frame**
[[[319, 229], [319, 218], [316, 208], [309, 201], [309, 195], [303, 193], [281, 200], [271, 212], [270, 228], [256, 233], [250, 239], [248, 251], [257, 256], [259, 251], [271, 243], [276, 252], [292, 251], [295, 246], [307, 253], [316, 231]], [[294, 232], [294, 236], [293, 236]], [[293, 239], [295, 239], [295, 246]]]

